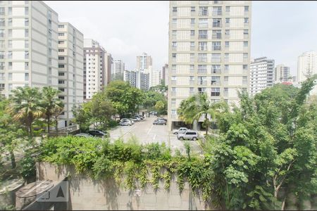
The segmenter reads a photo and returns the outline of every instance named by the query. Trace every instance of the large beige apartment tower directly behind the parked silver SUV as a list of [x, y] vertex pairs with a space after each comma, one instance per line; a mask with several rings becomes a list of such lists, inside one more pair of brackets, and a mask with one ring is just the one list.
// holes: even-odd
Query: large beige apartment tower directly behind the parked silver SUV
[[237, 91], [249, 87], [250, 29], [251, 1], [170, 1], [170, 129], [181, 122], [180, 102], [193, 94], [238, 102]]

